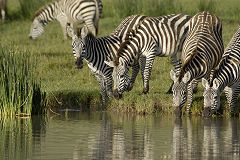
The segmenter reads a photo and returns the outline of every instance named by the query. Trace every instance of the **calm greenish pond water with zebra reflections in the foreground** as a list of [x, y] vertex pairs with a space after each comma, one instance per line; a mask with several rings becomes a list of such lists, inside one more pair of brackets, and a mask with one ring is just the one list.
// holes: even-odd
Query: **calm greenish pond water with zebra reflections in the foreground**
[[240, 159], [239, 118], [80, 113], [0, 121], [0, 159]]

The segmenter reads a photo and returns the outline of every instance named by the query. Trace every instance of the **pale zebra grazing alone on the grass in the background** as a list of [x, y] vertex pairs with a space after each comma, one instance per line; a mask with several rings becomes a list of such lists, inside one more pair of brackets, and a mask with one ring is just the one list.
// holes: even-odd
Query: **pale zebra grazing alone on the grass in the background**
[[[101, 0], [98, 0], [101, 2]], [[64, 39], [67, 39], [66, 26], [71, 24], [75, 29], [85, 23], [94, 36], [98, 32], [99, 3], [97, 0], [57, 0], [39, 9], [31, 25], [29, 38], [36, 39], [44, 32], [48, 22], [58, 20]], [[102, 3], [101, 3], [102, 4]], [[102, 11], [100, 11], [102, 12]]]

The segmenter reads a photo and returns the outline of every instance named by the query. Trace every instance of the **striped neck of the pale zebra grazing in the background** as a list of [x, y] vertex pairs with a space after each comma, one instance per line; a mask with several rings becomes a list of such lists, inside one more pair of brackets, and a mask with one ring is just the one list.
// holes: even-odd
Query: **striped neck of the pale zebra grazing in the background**
[[51, 22], [56, 19], [59, 13], [58, 1], [46, 5], [41, 8], [35, 15], [39, 21], [44, 21], [45, 23]]

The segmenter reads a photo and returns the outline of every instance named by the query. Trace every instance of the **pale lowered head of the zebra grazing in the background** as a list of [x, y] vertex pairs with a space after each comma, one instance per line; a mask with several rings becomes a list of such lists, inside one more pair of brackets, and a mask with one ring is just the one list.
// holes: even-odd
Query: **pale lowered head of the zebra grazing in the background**
[[35, 18], [31, 25], [30, 33], [28, 35], [29, 38], [36, 39], [38, 36], [40, 36], [44, 32], [44, 26], [46, 24], [46, 21]]

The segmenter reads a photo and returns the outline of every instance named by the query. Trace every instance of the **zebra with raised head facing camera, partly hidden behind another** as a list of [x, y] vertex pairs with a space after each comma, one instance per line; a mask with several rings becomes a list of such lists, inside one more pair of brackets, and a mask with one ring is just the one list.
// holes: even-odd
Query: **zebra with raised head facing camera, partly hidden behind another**
[[[77, 59], [76, 64], [82, 66], [82, 59], [88, 63], [88, 67], [97, 78], [103, 103], [106, 102], [108, 96], [112, 95], [112, 68], [104, 63], [104, 61], [113, 60], [116, 57], [120, 43], [128, 36], [129, 30], [134, 30], [146, 16], [132, 15], [123, 20], [113, 33], [106, 37], [95, 38], [86, 27], [81, 29], [78, 37], [71, 26], [67, 31], [72, 37], [73, 54]], [[132, 80], [135, 81], [137, 73], [134, 67], [139, 66], [138, 63], [133, 65]]]

